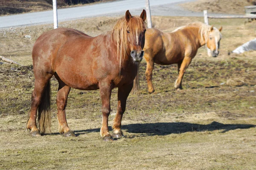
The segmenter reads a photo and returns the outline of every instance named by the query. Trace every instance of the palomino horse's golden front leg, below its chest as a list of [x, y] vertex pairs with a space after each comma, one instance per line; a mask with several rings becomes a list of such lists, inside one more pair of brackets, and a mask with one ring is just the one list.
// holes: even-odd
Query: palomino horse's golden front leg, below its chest
[[180, 64], [180, 69], [179, 69], [179, 64], [178, 64], [178, 69], [180, 71], [179, 71], [179, 75], [178, 75], [178, 78], [177, 78], [177, 80], [175, 82], [175, 86], [174, 86], [176, 90], [182, 89], [181, 82], [182, 82], [184, 73], [185, 73], [186, 69], [188, 68], [191, 60], [192, 60], [191, 57], [184, 57], [182, 63]]

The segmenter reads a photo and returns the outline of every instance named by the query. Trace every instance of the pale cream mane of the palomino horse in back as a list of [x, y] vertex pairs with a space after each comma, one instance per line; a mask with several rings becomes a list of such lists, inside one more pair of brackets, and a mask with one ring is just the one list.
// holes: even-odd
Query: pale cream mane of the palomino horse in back
[[[189, 23], [186, 26], [181, 26], [181, 27], [175, 29], [172, 32], [175, 32], [175, 31], [178, 31], [178, 30], [181, 30], [181, 29], [185, 29], [185, 28], [189, 28], [189, 27], [199, 28], [198, 34], [200, 34], [200, 36], [201, 36], [201, 41], [204, 40], [205, 42], [207, 42], [207, 39], [208, 39], [208, 36], [209, 36], [209, 28], [211, 28], [211, 26], [209, 26], [205, 23], [201, 23], [201, 22]], [[216, 30], [216, 31], [218, 30], [217, 28], [213, 28], [213, 29]], [[218, 30], [218, 32], [219, 32], [219, 35], [220, 35], [220, 38], [221, 38], [221, 32], [219, 30]]]

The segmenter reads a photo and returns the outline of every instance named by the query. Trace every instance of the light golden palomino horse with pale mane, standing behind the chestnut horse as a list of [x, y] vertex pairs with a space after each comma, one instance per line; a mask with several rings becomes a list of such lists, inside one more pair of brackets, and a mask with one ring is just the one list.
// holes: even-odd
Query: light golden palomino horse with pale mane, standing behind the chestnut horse
[[212, 57], [219, 54], [221, 31], [201, 22], [195, 22], [177, 28], [171, 33], [164, 33], [157, 29], [147, 29], [145, 34], [145, 60], [147, 69], [145, 72], [148, 82], [148, 92], [153, 93], [152, 71], [154, 63], [160, 65], [178, 64], [178, 78], [175, 88], [182, 89], [181, 81], [186, 68], [195, 57], [198, 48], [207, 44], [212, 52]]

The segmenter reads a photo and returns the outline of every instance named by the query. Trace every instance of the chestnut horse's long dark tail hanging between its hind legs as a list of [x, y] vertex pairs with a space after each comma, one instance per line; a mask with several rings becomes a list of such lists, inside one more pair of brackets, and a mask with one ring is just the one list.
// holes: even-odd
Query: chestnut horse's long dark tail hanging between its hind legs
[[47, 83], [43, 96], [41, 98], [41, 104], [38, 107], [38, 128], [41, 134], [45, 132], [51, 133], [51, 83], [50, 80]]

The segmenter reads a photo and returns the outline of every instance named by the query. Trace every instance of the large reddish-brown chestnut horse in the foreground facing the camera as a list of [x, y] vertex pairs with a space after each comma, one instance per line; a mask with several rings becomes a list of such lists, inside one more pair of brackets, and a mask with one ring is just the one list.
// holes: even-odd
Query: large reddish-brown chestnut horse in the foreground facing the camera
[[[117, 21], [112, 31], [97, 37], [90, 37], [75, 29], [57, 28], [36, 40], [32, 51], [35, 89], [27, 122], [27, 129], [32, 136], [41, 136], [50, 128], [49, 80], [54, 75], [59, 83], [57, 116], [61, 135], [75, 136], [67, 125], [65, 108], [70, 88], [76, 88], [99, 89], [103, 114], [100, 135], [104, 141], [122, 137], [121, 121], [126, 99], [137, 75], [137, 64], [144, 55], [145, 19], [145, 10], [140, 17], [132, 17], [126, 11], [125, 17]], [[111, 136], [108, 116], [111, 91], [116, 87], [118, 105]]]

